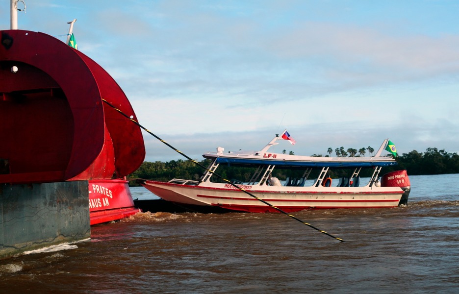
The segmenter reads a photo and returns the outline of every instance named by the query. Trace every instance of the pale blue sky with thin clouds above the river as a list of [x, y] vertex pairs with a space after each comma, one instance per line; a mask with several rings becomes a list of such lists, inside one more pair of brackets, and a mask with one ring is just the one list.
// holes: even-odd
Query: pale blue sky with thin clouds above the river
[[[77, 19], [78, 49], [139, 123], [193, 159], [260, 150], [284, 129], [296, 144], [270, 151], [327, 155], [389, 138], [399, 154], [459, 152], [459, 1], [25, 2], [19, 29], [65, 42]], [[185, 159], [143, 133], [145, 161]]]

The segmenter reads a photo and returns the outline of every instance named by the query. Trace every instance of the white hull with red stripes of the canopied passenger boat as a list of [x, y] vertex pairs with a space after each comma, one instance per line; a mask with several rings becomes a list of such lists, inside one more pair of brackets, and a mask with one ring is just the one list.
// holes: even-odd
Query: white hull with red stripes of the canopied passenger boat
[[[143, 180], [140, 183], [153, 194], [180, 205], [218, 206], [234, 211], [279, 212], [256, 199], [260, 198], [285, 212], [331, 208], [389, 208], [399, 205], [401, 187], [277, 187], [201, 183], [183, 185]], [[202, 185], [204, 184], [204, 185]], [[408, 200], [408, 199], [407, 199]]]

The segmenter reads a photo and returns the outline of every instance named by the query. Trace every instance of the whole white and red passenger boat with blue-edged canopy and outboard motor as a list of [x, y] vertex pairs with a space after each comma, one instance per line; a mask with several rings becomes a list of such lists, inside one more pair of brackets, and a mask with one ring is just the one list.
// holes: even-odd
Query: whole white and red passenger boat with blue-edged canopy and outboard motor
[[[285, 212], [311, 208], [396, 207], [408, 203], [410, 184], [405, 170], [385, 174], [380, 181], [382, 168], [397, 164], [392, 155], [381, 156], [388, 140], [372, 157], [313, 157], [269, 152], [270, 147], [279, 144], [276, 142], [279, 139], [282, 136], [276, 135], [260, 151], [224, 153], [224, 148], [218, 147], [217, 152], [204, 153], [204, 158], [212, 159], [212, 162], [200, 181], [172, 179], [168, 182], [138, 182], [164, 200], [193, 209], [213, 206], [233, 211], [278, 212], [257, 198]], [[247, 183], [236, 180], [220, 183], [211, 181], [215, 178], [212, 176], [218, 173], [216, 170], [220, 164], [255, 169], [252, 179]], [[272, 176], [277, 169], [282, 169], [283, 173], [287, 173], [287, 170], [303, 172], [300, 173], [302, 176], [288, 178], [281, 185]], [[329, 174], [334, 169], [344, 169], [348, 176], [332, 180]], [[367, 183], [360, 178], [363, 169], [371, 170]], [[317, 176], [308, 180], [312, 174]]]

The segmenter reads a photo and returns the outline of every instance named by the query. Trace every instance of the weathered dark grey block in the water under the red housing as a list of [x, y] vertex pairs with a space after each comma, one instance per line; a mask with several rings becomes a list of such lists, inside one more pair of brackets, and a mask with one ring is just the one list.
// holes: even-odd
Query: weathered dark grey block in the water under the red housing
[[0, 258], [90, 237], [88, 181], [0, 184]]

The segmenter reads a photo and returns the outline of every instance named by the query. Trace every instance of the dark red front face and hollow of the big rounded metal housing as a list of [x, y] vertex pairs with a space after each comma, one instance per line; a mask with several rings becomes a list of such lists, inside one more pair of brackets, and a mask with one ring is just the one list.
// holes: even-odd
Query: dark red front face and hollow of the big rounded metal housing
[[[91, 71], [75, 50], [49, 35], [5, 30], [1, 40], [0, 92], [7, 99], [1, 101], [0, 137], [11, 142], [0, 159], [11, 175], [41, 172], [46, 181], [84, 171], [104, 144], [102, 101]], [[56, 169], [64, 176], [50, 178]], [[0, 180], [13, 178], [3, 173]]]

